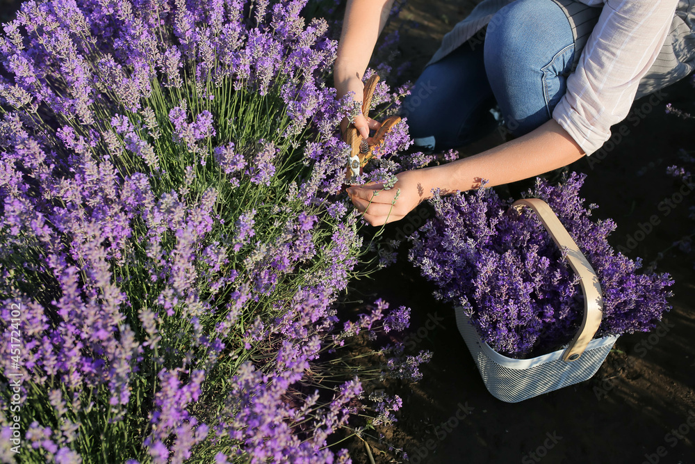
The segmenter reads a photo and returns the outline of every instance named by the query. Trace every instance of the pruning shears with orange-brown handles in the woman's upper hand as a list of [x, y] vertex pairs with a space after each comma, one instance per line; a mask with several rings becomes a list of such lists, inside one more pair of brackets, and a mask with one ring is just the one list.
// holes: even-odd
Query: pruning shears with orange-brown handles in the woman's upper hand
[[[372, 97], [374, 96], [374, 89], [377, 87], [379, 82], [379, 76], [373, 74], [366, 83], [364, 84], [364, 94], [362, 99], [362, 114], [365, 118], [368, 118], [369, 107], [372, 103]], [[354, 184], [354, 180], [358, 175], [362, 173], [362, 168], [366, 165], [367, 161], [374, 158], [374, 150], [381, 147], [384, 143], [384, 136], [388, 131], [391, 130], [393, 126], [400, 122], [400, 116], [391, 116], [386, 118], [382, 125], [377, 130], [377, 133], [372, 138], [372, 144], [369, 145], [367, 141], [362, 138], [353, 125], [347, 128], [345, 133], [345, 141], [350, 145], [350, 155], [347, 159], [347, 172], [345, 173], [345, 179], [348, 184]]]

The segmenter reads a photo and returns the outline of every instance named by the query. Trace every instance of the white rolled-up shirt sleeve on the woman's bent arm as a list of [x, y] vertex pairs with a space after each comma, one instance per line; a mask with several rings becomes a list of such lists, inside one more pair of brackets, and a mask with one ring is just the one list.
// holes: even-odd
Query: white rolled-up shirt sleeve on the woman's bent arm
[[625, 119], [639, 80], [656, 60], [678, 0], [607, 0], [553, 119], [582, 147], [598, 150]]

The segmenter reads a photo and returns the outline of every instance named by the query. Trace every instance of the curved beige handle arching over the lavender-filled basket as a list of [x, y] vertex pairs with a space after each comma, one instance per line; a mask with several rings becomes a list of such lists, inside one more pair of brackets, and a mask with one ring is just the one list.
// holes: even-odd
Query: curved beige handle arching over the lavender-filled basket
[[594, 268], [577, 246], [577, 243], [570, 237], [569, 232], [559, 221], [548, 203], [539, 198], [526, 198], [516, 200], [512, 205], [516, 209], [530, 207], [541, 219], [543, 227], [553, 237], [553, 241], [561, 250], [567, 250], [567, 260], [572, 269], [579, 275], [584, 293], [584, 319], [580, 325], [577, 335], [572, 339], [567, 349], [562, 353], [565, 361], [578, 360], [587, 344], [596, 335], [596, 330], [600, 326], [603, 317], [603, 291]]

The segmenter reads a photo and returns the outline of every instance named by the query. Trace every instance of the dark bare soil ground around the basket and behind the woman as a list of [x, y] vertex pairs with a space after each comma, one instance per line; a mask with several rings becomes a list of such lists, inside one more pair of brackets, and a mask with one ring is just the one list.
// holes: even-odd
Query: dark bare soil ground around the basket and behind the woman
[[[402, 56], [414, 62], [411, 79], [439, 47], [443, 33], [475, 3], [408, 1], [388, 27], [400, 29]], [[413, 21], [417, 28], [411, 27]], [[599, 205], [594, 214], [616, 221], [612, 245], [627, 248], [630, 238], [637, 237], [628, 255], [649, 263], [663, 254], [657, 271], [676, 280], [665, 328], [659, 334], [621, 336], [588, 381], [521, 403], [492, 397], [458, 333], [452, 307], [432, 297], [432, 285], [407, 262], [404, 246], [398, 264], [375, 275], [370, 288], [360, 287], [392, 305], [411, 307], [409, 337], [417, 340], [417, 349], [434, 353], [422, 381], [393, 387], [404, 406], [399, 422], [384, 433], [389, 445], [407, 451], [408, 462], [695, 463], [693, 258], [672, 247], [673, 241], [695, 232], [695, 222], [688, 218], [695, 202], [686, 194], [668, 214], [658, 207], [680, 188], [666, 175], [667, 166], [679, 163], [679, 149], [695, 148], [695, 120], [667, 115], [664, 108], [668, 102], [685, 106], [694, 96], [692, 86], [681, 81], [651, 102], [648, 97], [639, 100], [632, 118], [621, 124], [626, 136], [612, 139], [610, 153], [570, 166], [587, 174], [583, 196]], [[500, 138], [493, 134], [461, 153], [497, 143]], [[653, 215], [660, 223], [641, 239], [635, 232]], [[405, 229], [404, 221], [408, 219], [389, 225], [386, 233], [395, 236]], [[430, 330], [427, 320], [433, 316], [443, 321]], [[370, 449], [377, 463], [404, 461], [384, 443], [370, 442]], [[369, 462], [361, 442], [351, 451], [353, 462]]]

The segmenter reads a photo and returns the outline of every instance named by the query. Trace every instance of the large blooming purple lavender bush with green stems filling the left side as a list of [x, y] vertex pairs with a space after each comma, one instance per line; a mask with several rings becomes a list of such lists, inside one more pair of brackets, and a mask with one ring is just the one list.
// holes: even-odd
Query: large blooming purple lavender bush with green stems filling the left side
[[[3, 461], [349, 462], [334, 431], [393, 419], [369, 382], [427, 353], [350, 360], [409, 314], [338, 323], [366, 247], [336, 42], [304, 3], [28, 1], [3, 26]], [[408, 144], [400, 125], [365, 179]]]

